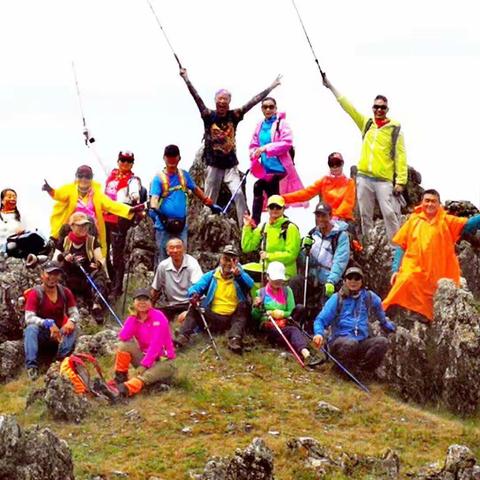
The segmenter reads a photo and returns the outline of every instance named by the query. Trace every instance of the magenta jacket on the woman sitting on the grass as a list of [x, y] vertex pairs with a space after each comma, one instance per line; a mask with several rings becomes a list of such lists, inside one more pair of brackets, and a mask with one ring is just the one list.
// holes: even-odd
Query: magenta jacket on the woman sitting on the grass
[[118, 338], [122, 342], [129, 342], [132, 338], [137, 340], [140, 349], [145, 353], [140, 362], [145, 368], [150, 368], [160, 357], [167, 357], [169, 360], [175, 358], [167, 317], [155, 308], [149, 310], [145, 322], [140, 322], [134, 315], [128, 317]]

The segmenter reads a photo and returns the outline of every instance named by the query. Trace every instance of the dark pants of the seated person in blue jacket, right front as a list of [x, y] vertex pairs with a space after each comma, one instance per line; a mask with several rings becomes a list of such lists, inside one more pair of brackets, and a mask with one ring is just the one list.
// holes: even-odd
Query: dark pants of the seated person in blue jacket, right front
[[387, 353], [385, 337], [370, 337], [358, 342], [348, 337], [337, 337], [329, 346], [330, 353], [348, 370], [373, 372]]

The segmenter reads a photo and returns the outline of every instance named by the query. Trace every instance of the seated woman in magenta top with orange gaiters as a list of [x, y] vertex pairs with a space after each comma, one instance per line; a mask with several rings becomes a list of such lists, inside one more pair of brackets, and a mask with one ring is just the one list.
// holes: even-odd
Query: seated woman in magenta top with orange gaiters
[[[175, 349], [168, 320], [152, 307], [149, 290], [134, 293], [133, 310], [118, 334], [115, 378], [102, 392], [112, 401], [136, 395], [145, 385], [170, 383], [175, 374]], [[130, 364], [137, 370], [129, 378]]]

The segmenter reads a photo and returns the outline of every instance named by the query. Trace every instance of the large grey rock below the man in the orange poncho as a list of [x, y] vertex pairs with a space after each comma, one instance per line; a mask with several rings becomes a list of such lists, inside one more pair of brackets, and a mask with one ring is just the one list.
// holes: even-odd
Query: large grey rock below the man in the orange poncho
[[390, 336], [385, 357], [388, 382], [405, 400], [441, 403], [461, 415], [480, 405], [480, 315], [473, 295], [451, 280], [440, 280], [431, 325], [409, 322], [398, 311], [400, 325]]

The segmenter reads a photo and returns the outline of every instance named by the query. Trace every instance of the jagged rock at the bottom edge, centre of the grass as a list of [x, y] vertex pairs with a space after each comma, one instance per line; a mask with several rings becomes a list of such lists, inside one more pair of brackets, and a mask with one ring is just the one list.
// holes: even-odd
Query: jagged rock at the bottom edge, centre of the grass
[[245, 450], [233, 457], [212, 458], [195, 480], [273, 480], [273, 454], [261, 438], [254, 438]]

